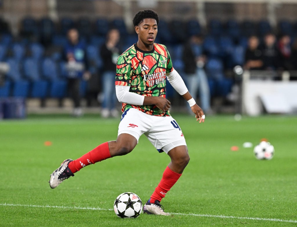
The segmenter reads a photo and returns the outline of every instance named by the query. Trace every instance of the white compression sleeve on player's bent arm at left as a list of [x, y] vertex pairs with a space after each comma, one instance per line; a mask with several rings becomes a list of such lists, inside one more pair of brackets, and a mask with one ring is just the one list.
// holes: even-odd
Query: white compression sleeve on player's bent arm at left
[[129, 92], [130, 86], [116, 85], [116, 97], [120, 103], [143, 105], [144, 96]]

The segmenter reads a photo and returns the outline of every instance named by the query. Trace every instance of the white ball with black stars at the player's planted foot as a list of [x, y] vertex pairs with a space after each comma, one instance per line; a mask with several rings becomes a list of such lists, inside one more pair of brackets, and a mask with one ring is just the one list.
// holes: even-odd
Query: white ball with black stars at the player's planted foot
[[125, 192], [116, 198], [113, 208], [120, 218], [137, 218], [142, 212], [142, 202], [138, 195]]

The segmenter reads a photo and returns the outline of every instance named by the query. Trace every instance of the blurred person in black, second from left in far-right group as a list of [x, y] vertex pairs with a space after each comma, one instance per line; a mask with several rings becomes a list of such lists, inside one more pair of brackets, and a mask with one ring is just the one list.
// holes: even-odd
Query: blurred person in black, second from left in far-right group
[[267, 33], [264, 36], [264, 43], [261, 46], [263, 56], [263, 69], [275, 70], [278, 67], [278, 50], [276, 46], [276, 37], [273, 33]]

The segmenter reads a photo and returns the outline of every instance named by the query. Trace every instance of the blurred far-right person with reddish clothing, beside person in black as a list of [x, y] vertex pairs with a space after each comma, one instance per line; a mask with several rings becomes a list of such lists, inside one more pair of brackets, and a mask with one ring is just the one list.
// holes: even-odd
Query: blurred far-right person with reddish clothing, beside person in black
[[292, 60], [291, 60], [291, 37], [288, 35], [282, 35], [279, 38], [277, 47], [279, 50], [280, 69], [293, 70], [294, 64], [292, 64]]

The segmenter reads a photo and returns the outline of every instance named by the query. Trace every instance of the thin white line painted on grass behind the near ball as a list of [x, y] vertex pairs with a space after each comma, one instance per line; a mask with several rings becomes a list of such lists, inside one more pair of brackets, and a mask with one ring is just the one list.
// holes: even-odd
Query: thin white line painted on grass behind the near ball
[[[62, 209], [80, 209], [80, 210], [113, 210], [113, 209], [103, 209], [99, 207], [64, 207], [64, 206], [49, 206], [49, 205], [30, 205], [30, 204], [8, 204], [0, 203], [0, 206], [11, 206], [11, 207], [40, 207], [40, 208], [62, 208]], [[174, 215], [183, 216], [196, 216], [196, 217], [209, 217], [209, 218], [233, 218], [233, 219], [245, 219], [245, 220], [259, 220], [259, 221], [276, 221], [276, 222], [290, 222], [297, 223], [297, 220], [283, 220], [279, 218], [251, 218], [251, 217], [235, 217], [235, 216], [225, 216], [225, 215], [209, 215], [209, 214], [183, 214], [183, 213], [171, 213]]]

